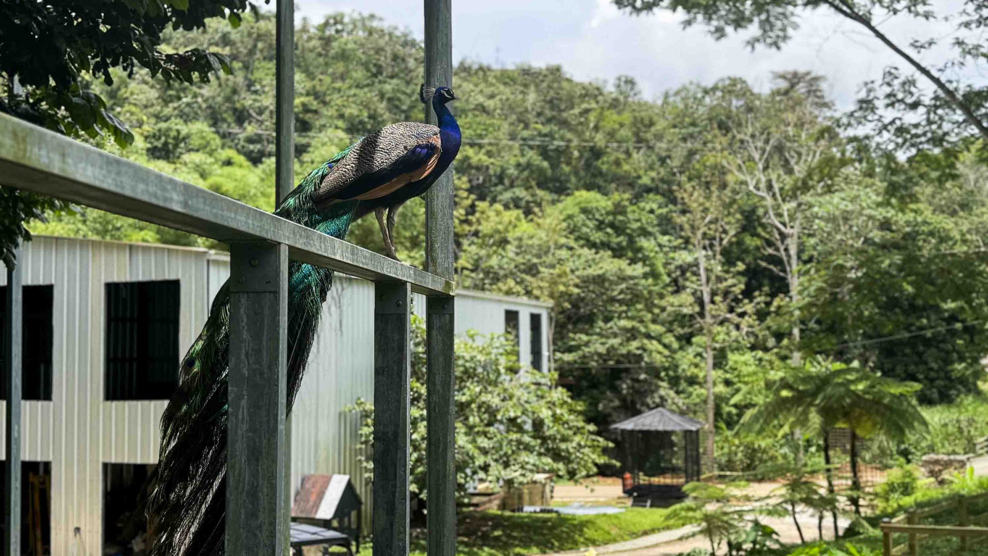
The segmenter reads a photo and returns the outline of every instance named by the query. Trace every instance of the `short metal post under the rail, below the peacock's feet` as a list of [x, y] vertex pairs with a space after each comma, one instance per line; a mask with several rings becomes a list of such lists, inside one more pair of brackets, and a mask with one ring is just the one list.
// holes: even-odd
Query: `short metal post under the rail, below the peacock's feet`
[[408, 554], [409, 328], [411, 287], [374, 288], [373, 554]]

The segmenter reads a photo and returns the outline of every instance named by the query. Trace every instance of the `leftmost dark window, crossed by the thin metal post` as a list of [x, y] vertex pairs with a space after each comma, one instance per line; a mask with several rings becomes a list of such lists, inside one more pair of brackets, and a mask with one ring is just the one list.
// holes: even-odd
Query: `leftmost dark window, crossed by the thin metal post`
[[[51, 299], [54, 286], [23, 286], [21, 325], [21, 397], [51, 399]], [[0, 334], [7, 322], [7, 286], [0, 286]], [[0, 337], [3, 337], [0, 335]], [[0, 349], [0, 369], [4, 353]], [[0, 399], [7, 399], [7, 385], [0, 381]]]

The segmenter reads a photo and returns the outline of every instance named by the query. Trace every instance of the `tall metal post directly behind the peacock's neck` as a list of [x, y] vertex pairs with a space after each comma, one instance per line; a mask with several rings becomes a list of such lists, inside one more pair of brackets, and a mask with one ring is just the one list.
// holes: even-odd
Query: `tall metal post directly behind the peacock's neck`
[[[425, 0], [426, 84], [453, 86], [452, 0]], [[436, 123], [432, 105], [426, 121]], [[453, 168], [426, 194], [426, 269], [453, 279]], [[455, 384], [453, 297], [433, 297], [426, 322], [428, 378], [427, 504], [430, 556], [456, 553]]]

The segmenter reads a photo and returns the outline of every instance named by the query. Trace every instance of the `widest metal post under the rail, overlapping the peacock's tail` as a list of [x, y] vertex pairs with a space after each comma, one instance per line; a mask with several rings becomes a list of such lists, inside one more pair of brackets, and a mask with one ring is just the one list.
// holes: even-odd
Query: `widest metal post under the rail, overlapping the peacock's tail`
[[288, 247], [230, 244], [226, 553], [282, 554]]

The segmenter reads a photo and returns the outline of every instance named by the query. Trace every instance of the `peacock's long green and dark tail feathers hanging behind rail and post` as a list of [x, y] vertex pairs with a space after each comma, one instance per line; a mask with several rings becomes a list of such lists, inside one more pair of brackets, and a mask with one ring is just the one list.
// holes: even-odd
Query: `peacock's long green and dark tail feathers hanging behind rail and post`
[[[312, 171], [275, 214], [344, 238], [358, 202], [317, 209], [311, 192], [343, 151]], [[333, 273], [307, 263], [288, 266], [288, 411], [302, 373]], [[181, 363], [179, 386], [161, 417], [158, 466], [144, 502], [153, 556], [218, 556], [224, 552], [226, 499], [228, 284], [212, 301], [203, 331]]]

